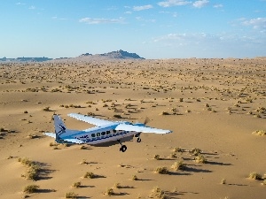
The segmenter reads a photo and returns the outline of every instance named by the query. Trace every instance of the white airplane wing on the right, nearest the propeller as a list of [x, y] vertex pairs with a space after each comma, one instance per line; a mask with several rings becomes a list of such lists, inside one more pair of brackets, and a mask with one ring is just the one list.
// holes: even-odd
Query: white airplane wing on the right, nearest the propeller
[[154, 134], [169, 134], [172, 133], [170, 130], [164, 130], [160, 128], [152, 128], [148, 126], [134, 126], [127, 124], [120, 124], [115, 127], [115, 130], [123, 130], [123, 131], [136, 131], [142, 133], [154, 133]]

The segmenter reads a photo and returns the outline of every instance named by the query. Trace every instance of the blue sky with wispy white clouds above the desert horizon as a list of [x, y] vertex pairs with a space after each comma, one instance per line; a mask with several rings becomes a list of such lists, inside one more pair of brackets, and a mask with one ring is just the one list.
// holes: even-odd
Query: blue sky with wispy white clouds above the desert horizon
[[266, 0], [2, 0], [0, 57], [266, 56]]

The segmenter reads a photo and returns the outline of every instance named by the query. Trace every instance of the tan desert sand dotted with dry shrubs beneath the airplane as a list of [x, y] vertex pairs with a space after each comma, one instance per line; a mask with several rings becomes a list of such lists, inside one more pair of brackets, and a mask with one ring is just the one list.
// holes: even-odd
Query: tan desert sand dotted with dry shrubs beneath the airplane
[[[263, 58], [2, 63], [0, 198], [109, 198], [107, 189], [112, 198], [265, 198], [266, 135], [254, 134], [266, 130], [265, 108]], [[71, 112], [148, 117], [173, 133], [141, 134], [124, 153], [43, 134], [54, 131], [54, 113], [68, 128], [90, 127]], [[26, 193], [27, 185], [39, 188]]]

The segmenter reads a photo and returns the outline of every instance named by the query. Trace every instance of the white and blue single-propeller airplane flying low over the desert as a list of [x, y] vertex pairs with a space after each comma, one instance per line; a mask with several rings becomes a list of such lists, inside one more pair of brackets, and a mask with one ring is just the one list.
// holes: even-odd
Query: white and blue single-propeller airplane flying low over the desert
[[[113, 141], [117, 141], [121, 144], [120, 151], [125, 152], [127, 146], [122, 144], [123, 141], [131, 140], [134, 136], [137, 137], [137, 142], [141, 142], [141, 133], [155, 133], [155, 134], [168, 134], [172, 133], [170, 130], [163, 130], [159, 128], [153, 128], [145, 126], [145, 123], [132, 124], [128, 121], [108, 121], [105, 119], [97, 119], [90, 116], [85, 116], [76, 113], [70, 113], [68, 116], [78, 119], [94, 125], [85, 130], [70, 130], [67, 129], [63, 120], [59, 115], [54, 115], [54, 133], [44, 133], [48, 136], [55, 138], [59, 143], [78, 143], [78, 144], [90, 144], [98, 145], [102, 143], [109, 143], [111, 145]], [[109, 146], [108, 145], [108, 146]]]

